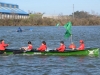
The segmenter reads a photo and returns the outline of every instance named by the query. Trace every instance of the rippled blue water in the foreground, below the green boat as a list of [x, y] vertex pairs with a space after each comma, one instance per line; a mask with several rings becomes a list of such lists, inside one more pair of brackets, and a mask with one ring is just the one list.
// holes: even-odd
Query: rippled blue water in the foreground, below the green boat
[[2, 75], [17, 75], [18, 73], [19, 75], [100, 74], [100, 64], [97, 63], [100, 61], [98, 57], [11, 55], [1, 57], [0, 61]]

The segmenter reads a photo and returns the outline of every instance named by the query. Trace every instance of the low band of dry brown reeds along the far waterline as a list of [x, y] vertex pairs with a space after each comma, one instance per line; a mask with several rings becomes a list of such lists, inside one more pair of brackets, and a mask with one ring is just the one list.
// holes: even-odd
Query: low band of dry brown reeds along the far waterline
[[82, 19], [0, 19], [0, 26], [56, 26], [60, 23], [63, 26], [68, 21], [73, 23], [73, 26], [93, 26], [100, 25], [100, 18], [82, 18]]

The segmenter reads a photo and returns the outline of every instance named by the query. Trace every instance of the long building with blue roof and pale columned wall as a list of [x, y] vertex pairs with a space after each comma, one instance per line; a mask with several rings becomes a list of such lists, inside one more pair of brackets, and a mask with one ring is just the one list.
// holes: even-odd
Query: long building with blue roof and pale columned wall
[[0, 2], [0, 19], [21, 19], [28, 18], [29, 14], [21, 9], [16, 4], [9, 4]]

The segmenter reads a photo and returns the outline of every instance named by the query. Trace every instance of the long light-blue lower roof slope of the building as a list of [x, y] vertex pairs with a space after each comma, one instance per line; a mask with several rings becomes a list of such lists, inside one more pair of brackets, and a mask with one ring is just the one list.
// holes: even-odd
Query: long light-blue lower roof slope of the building
[[15, 13], [18, 15], [28, 15], [27, 12], [25, 12], [19, 8], [9, 8], [9, 7], [0, 7], [0, 13], [5, 13], [5, 14]]

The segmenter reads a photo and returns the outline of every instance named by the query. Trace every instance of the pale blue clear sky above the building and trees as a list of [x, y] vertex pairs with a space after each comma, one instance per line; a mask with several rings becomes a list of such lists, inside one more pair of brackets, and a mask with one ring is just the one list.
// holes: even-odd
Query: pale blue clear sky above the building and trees
[[17, 4], [20, 9], [28, 13], [70, 15], [74, 6], [74, 12], [86, 11], [100, 15], [100, 0], [0, 0], [0, 2]]

